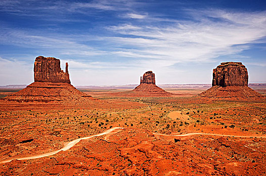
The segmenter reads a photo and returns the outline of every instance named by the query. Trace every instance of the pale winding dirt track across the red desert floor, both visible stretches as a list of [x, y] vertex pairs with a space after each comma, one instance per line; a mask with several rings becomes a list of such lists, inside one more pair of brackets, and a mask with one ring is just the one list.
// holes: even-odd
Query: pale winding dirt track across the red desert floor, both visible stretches
[[[92, 136], [88, 136], [88, 137], [82, 137], [82, 138], [78, 138], [75, 139], [73, 141], [70, 141], [69, 143], [67, 143], [63, 148], [56, 150], [56, 151], [52, 151], [52, 152], [48, 152], [48, 153], [43, 153], [40, 155], [33, 155], [33, 156], [27, 156], [27, 157], [21, 157], [21, 158], [12, 158], [12, 159], [7, 159], [7, 160], [3, 160], [0, 161], [1, 163], [6, 163], [6, 162], [10, 162], [14, 159], [17, 160], [27, 160], [27, 159], [36, 159], [36, 158], [41, 158], [41, 157], [46, 157], [46, 156], [51, 156], [54, 155], [60, 151], [66, 151], [68, 149], [70, 149], [71, 147], [73, 147], [74, 145], [76, 145], [80, 140], [85, 140], [85, 139], [90, 139], [93, 137], [97, 137], [97, 136], [103, 136], [106, 134], [110, 134], [110, 133], [117, 133], [119, 131], [116, 131], [117, 129], [124, 129], [124, 128], [120, 128], [120, 127], [113, 127], [109, 130], [106, 130], [103, 133], [100, 134], [96, 134], [96, 135], [92, 135]], [[243, 138], [251, 138], [251, 137], [256, 137], [256, 138], [266, 138], [266, 136], [235, 136], [235, 135], [224, 135], [224, 134], [211, 134], [211, 133], [188, 133], [188, 134], [180, 134], [180, 135], [168, 135], [168, 134], [159, 134], [159, 133], [153, 133], [154, 135], [160, 135], [160, 136], [173, 136], [173, 137], [184, 137], [184, 136], [193, 136], [193, 135], [211, 135], [211, 136], [227, 136], [227, 137], [243, 137]]]

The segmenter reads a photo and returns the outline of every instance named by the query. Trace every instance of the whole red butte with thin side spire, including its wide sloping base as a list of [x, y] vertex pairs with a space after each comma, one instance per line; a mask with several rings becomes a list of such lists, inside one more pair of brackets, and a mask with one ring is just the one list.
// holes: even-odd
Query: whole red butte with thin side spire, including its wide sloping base
[[69, 104], [83, 104], [93, 99], [71, 85], [68, 63], [66, 63], [66, 72], [64, 72], [61, 70], [59, 59], [38, 56], [34, 62], [34, 82], [25, 89], [4, 98], [4, 100], [12, 102], [68, 102]]

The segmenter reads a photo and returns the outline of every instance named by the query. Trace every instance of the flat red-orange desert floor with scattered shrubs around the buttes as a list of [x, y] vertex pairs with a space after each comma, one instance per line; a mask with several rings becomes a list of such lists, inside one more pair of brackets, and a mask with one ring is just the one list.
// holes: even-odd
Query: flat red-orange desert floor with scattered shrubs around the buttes
[[198, 101], [206, 89], [165, 90], [175, 96], [81, 90], [98, 103], [1, 104], [0, 175], [266, 174], [265, 99]]

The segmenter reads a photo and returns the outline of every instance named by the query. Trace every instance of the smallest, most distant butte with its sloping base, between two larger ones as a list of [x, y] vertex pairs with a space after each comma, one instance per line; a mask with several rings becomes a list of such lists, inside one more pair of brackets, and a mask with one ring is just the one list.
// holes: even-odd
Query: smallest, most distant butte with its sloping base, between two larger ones
[[155, 74], [152, 71], [144, 73], [143, 76], [141, 76], [140, 85], [131, 92], [140, 97], [167, 97], [172, 95], [155, 84]]

